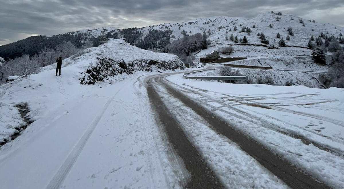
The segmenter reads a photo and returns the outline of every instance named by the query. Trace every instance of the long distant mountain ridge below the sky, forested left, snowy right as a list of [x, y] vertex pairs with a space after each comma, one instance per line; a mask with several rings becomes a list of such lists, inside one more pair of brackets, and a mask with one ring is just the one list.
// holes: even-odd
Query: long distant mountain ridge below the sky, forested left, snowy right
[[[55, 48], [63, 41], [71, 41], [77, 48], [99, 46], [102, 38], [126, 38], [131, 45], [142, 49], [161, 49], [173, 40], [186, 35], [206, 33], [212, 43], [239, 43], [244, 36], [250, 44], [262, 44], [257, 34], [263, 33], [269, 45], [279, 45], [281, 38], [287, 45], [307, 47], [311, 36], [334, 36], [344, 43], [344, 28], [330, 23], [318, 23], [286, 13], [261, 13], [252, 18], [214, 16], [187, 22], [164, 23], [142, 28], [112, 27], [82, 29], [55, 36], [32, 36], [0, 46], [0, 56], [13, 59], [23, 54], [34, 55], [43, 48]], [[291, 30], [291, 31], [290, 31]], [[231, 40], [233, 36], [233, 41]], [[234, 38], [237, 37], [237, 41]], [[288, 40], [289, 39], [289, 40]], [[264, 44], [264, 41], [263, 41]]]

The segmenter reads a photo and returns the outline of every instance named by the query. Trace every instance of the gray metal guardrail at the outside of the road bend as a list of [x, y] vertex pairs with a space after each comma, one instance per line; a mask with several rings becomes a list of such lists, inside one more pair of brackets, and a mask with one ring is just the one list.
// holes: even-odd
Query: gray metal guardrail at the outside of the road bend
[[[216, 70], [221, 68], [216, 68]], [[228, 81], [248, 81], [248, 76], [188, 76], [192, 74], [198, 74], [206, 71], [210, 71], [213, 69], [201, 70], [196, 72], [188, 72], [183, 74], [184, 79], [200, 79], [201, 81], [204, 80], [228, 80]]]

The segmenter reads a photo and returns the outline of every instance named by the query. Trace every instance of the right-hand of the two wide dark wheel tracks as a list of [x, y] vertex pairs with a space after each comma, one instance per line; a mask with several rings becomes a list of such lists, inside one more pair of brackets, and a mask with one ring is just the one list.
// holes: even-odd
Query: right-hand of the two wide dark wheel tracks
[[[172, 75], [172, 74], [171, 74]], [[306, 173], [292, 165], [287, 160], [282, 159], [276, 153], [265, 148], [262, 144], [255, 141], [249, 136], [236, 130], [234, 127], [223, 121], [220, 117], [209, 112], [198, 104], [182, 94], [179, 89], [171, 87], [171, 82], [163, 79], [164, 76], [156, 77], [154, 80], [157, 84], [165, 88], [170, 95], [179, 99], [186, 106], [193, 109], [198, 115], [203, 117], [215, 130], [233, 142], [236, 142], [244, 151], [250, 156], [254, 157], [262, 166], [267, 168], [270, 172], [275, 174], [278, 178], [283, 180], [292, 188], [329, 188], [323, 183], [316, 181], [309, 173]], [[178, 85], [177, 85], [178, 86]], [[182, 88], [179, 86], [179, 88]], [[198, 94], [198, 93], [197, 93]]]

